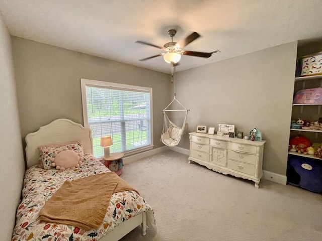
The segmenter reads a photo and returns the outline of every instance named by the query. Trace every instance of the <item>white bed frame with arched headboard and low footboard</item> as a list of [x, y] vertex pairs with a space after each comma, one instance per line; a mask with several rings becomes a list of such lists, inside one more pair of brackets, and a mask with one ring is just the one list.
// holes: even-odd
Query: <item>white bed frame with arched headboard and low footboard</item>
[[[38, 164], [40, 145], [50, 143], [65, 143], [69, 141], [82, 141], [84, 153], [93, 154], [92, 131], [84, 128], [81, 124], [74, 123], [69, 119], [56, 119], [47, 126], [41, 127], [37, 132], [26, 136], [26, 161], [27, 168]], [[101, 241], [117, 241], [142, 225], [142, 235], [146, 234], [146, 213], [131, 217], [102, 237]]]

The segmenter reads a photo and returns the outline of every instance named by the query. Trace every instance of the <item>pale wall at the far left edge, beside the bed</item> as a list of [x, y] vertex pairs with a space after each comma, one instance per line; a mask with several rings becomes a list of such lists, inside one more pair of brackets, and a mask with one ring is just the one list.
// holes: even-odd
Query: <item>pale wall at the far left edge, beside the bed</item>
[[25, 172], [10, 35], [0, 12], [0, 240], [11, 240]]

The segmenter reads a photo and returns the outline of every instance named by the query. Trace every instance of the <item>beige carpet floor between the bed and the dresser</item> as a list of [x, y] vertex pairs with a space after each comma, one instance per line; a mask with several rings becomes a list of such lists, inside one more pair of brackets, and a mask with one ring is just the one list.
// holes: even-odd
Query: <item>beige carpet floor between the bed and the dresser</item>
[[121, 240], [322, 240], [322, 195], [223, 175], [167, 151], [127, 164], [121, 177], [154, 208], [158, 229]]

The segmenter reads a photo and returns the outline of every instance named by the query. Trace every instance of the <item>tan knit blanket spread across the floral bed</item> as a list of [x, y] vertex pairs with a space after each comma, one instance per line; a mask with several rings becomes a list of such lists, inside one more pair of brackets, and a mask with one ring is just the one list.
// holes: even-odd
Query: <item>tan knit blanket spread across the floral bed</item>
[[[86, 231], [98, 228], [113, 193], [133, 190], [115, 172], [65, 181], [39, 212], [43, 221], [69, 224]], [[138, 192], [137, 192], [138, 193]]]

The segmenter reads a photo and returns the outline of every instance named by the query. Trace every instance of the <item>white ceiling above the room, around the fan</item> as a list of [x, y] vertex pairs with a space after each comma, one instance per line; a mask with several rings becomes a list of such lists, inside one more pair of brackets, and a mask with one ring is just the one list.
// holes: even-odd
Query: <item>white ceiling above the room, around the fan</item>
[[[0, 0], [11, 35], [170, 73], [162, 56], [168, 30], [174, 42], [198, 32], [185, 50], [221, 53], [183, 56], [177, 71], [322, 37], [320, 0]], [[322, 46], [321, 46], [322, 51]]]

